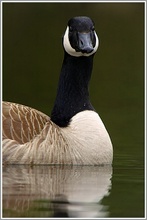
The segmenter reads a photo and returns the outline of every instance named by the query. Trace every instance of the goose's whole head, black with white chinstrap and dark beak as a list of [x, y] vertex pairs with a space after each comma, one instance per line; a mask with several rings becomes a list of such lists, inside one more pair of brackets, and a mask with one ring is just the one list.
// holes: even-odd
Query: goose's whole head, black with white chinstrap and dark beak
[[89, 17], [74, 17], [68, 21], [63, 37], [65, 51], [71, 56], [90, 56], [98, 48], [94, 22]]

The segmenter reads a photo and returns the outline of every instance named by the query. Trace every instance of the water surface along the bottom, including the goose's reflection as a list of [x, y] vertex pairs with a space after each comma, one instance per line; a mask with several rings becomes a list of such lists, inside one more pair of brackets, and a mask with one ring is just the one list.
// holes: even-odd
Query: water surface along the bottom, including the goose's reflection
[[123, 160], [113, 168], [6, 166], [3, 217], [144, 217], [142, 163]]

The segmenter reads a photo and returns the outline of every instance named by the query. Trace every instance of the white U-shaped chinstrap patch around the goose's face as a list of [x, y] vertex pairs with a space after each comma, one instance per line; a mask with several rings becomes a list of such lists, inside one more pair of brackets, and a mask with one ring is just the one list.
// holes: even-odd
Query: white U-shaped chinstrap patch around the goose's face
[[65, 51], [70, 54], [71, 56], [75, 56], [75, 57], [80, 57], [80, 56], [91, 56], [93, 53], [95, 53], [97, 51], [98, 45], [99, 45], [99, 40], [98, 40], [98, 36], [96, 34], [96, 32], [94, 32], [95, 34], [95, 38], [96, 38], [96, 44], [94, 47], [94, 50], [91, 53], [82, 53], [82, 52], [77, 52], [70, 44], [69, 42], [69, 27], [67, 26], [64, 37], [63, 37], [63, 46]]

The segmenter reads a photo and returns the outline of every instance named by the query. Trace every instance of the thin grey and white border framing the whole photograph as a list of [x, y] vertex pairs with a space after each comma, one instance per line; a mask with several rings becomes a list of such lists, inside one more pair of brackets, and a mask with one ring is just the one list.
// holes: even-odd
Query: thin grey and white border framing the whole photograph
[[[1, 0], [0, 0], [1, 1]], [[3, 60], [2, 60], [2, 42], [3, 42], [3, 39], [2, 39], [2, 16], [3, 16], [3, 14], [2, 14], [2, 4], [3, 3], [145, 3], [145, 6], [144, 6], [144, 46], [145, 46], [145, 52], [144, 52], [144, 105], [145, 105], [145, 107], [144, 107], [144, 118], [145, 118], [145, 120], [144, 120], [144, 123], [145, 123], [145, 125], [144, 125], [144, 136], [145, 136], [145, 138], [144, 138], [144, 141], [145, 141], [145, 146], [144, 146], [144, 149], [145, 149], [145, 156], [144, 156], [144, 162], [145, 162], [145, 169], [144, 169], [144, 176], [145, 176], [145, 183], [144, 183], [144, 189], [145, 189], [145, 201], [144, 201], [144, 207], [145, 207], [145, 217], [144, 218], [102, 218], [102, 219], [146, 219], [146, 205], [147, 205], [147, 203], [146, 203], [146, 166], [147, 166], [147, 162], [146, 162], [146, 132], [147, 132], [147, 130], [146, 130], [146, 120], [147, 120], [147, 116], [146, 116], [146, 103], [147, 103], [147, 101], [146, 101], [146, 98], [147, 98], [147, 94], [146, 94], [146, 79], [147, 79], [147, 77], [146, 77], [146, 0], [145, 1], [139, 1], [139, 0], [135, 0], [135, 1], [119, 1], [119, 0], [114, 0], [114, 1], [109, 1], [109, 0], [107, 0], [107, 1], [105, 1], [105, 0], [103, 0], [103, 1], [98, 1], [98, 0], [95, 0], [95, 1], [90, 1], [90, 0], [88, 0], [88, 1], [86, 1], [86, 0], [82, 0], [82, 1], [78, 1], [78, 0], [74, 0], [74, 1], [49, 1], [49, 0], [46, 0], [46, 1], [41, 1], [41, 0], [34, 0], [34, 1], [29, 1], [29, 0], [26, 0], [26, 1], [24, 1], [24, 0], [22, 0], [22, 1], [17, 1], [17, 0], [15, 0], [15, 1], [7, 1], [7, 0], [2, 0], [0, 3], [0, 12], [1, 12], [1, 22], [0, 22], [0, 28], [1, 28], [1, 35], [0, 35], [0, 48], [1, 48], [1, 59], [0, 59], [0, 67], [1, 67], [1, 69], [0, 69], [0, 71], [1, 71], [1, 74], [0, 74], [0, 92], [1, 92], [1, 94], [0, 94], [0, 115], [1, 115], [1, 121], [2, 121], [2, 72], [3, 72], [3, 67], [2, 67], [2, 62], [3, 62]], [[0, 121], [0, 122], [1, 122]], [[0, 123], [0, 130], [2, 131], [2, 123]], [[1, 141], [2, 141], [2, 132], [1, 132]], [[1, 146], [1, 148], [2, 148], [2, 146]], [[2, 153], [1, 153], [1, 162], [2, 162]], [[1, 180], [2, 180], [2, 163], [1, 163]], [[3, 218], [2, 217], [2, 181], [1, 181], [1, 188], [0, 188], [0, 191], [1, 191], [1, 219], [10, 219], [10, 218]], [[16, 219], [16, 218], [11, 218], [11, 219]], [[35, 220], [35, 219], [38, 219], [38, 218], [17, 218], [17, 219], [33, 219], [33, 220]], [[61, 219], [61, 218], [39, 218], [39, 219]], [[68, 218], [68, 219], [77, 219], [77, 218]], [[89, 218], [80, 218], [80, 219], [89, 219]], [[91, 219], [101, 219], [101, 218], [91, 218]]]

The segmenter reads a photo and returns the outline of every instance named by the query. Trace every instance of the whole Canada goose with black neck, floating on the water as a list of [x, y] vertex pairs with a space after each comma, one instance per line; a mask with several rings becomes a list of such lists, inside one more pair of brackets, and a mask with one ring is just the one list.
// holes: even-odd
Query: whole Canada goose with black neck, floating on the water
[[88, 84], [98, 48], [88, 17], [68, 21], [57, 96], [47, 115], [15, 103], [3, 103], [3, 163], [111, 164], [108, 132], [89, 100]]

